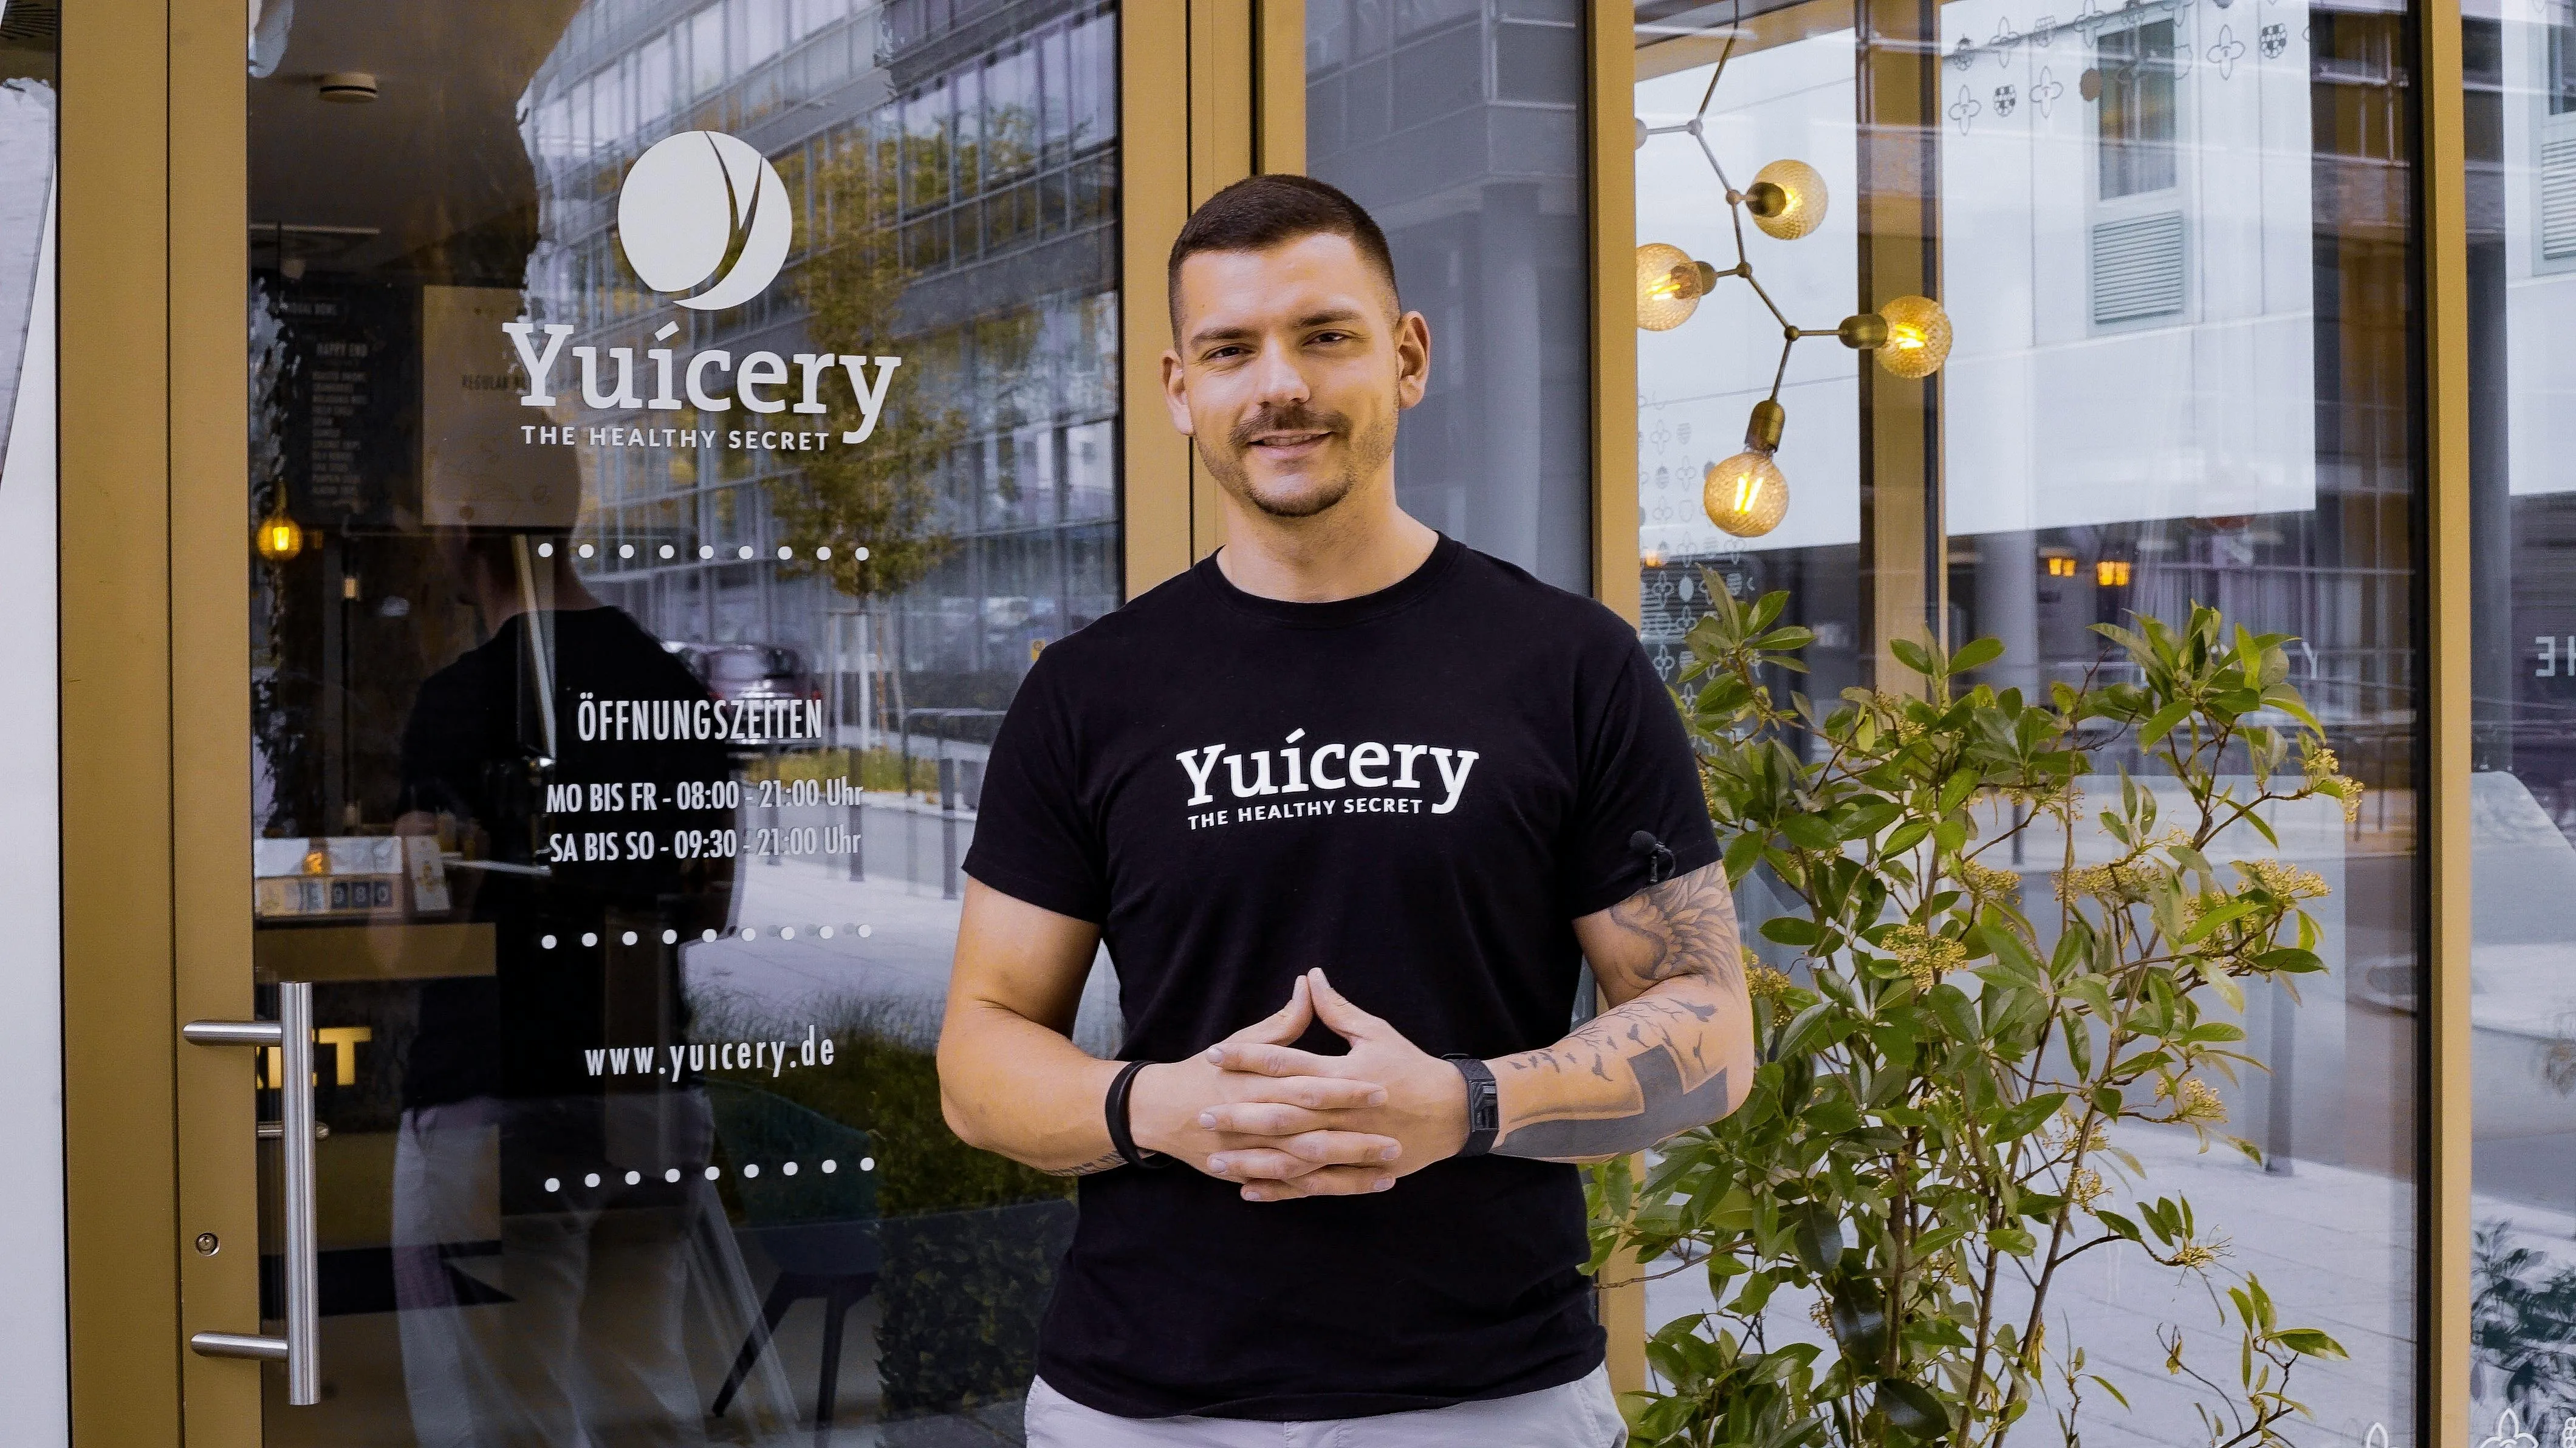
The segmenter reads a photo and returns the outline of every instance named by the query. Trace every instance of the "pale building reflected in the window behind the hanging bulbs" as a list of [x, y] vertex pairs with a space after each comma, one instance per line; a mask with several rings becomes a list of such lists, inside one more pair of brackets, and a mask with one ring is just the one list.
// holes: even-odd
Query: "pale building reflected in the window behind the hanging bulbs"
[[[1728, 64], [1710, 108], [1728, 165], [1801, 155], [1850, 175], [1852, 52], [1837, 15]], [[2020, 21], [1981, 0], [1942, 8], [1953, 636], [2004, 636], [2002, 672], [2027, 685], [2038, 670], [2092, 667], [2092, 624], [2210, 603], [2298, 634], [2298, 683], [2349, 763], [2403, 783], [2416, 443], [2393, 361], [2409, 325], [2398, 21], [2159, 0]], [[1708, 59], [1669, 72], [1641, 59], [1662, 77], [1641, 82], [1641, 111], [1687, 116]], [[1708, 234], [1723, 206], [1700, 196], [1713, 186], [1687, 142], [1656, 139], [1638, 165], [1638, 240], [1731, 255]], [[1842, 294], [1829, 283], [1850, 276], [1842, 227], [1865, 204], [1842, 191], [1834, 206], [1834, 232], [1757, 255], [1801, 319], [1832, 322]], [[1698, 466], [1734, 451], [1770, 386], [1770, 345], [1734, 345], [1749, 325], [1726, 312], [1739, 301], [1713, 296], [1700, 319], [1641, 343], [1646, 634], [1680, 639], [1695, 616], [1680, 575], [1726, 557], [1747, 587], [1790, 587], [1850, 639], [1862, 490], [1850, 358], [1790, 363], [1780, 533], [1721, 549], [1698, 518]], [[1680, 443], [1659, 451], [1667, 438]], [[1824, 642], [1819, 654], [1832, 683], [1857, 678], [1857, 660]]]

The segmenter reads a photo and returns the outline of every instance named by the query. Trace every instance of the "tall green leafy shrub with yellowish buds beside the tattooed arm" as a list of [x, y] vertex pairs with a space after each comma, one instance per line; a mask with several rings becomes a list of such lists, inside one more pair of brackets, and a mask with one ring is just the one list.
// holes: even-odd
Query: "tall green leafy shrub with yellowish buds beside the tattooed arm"
[[[2259, 1159], [2223, 1134], [2213, 1080], [2259, 1069], [2228, 1015], [2249, 982], [2324, 969], [2303, 902], [2326, 881], [2210, 855], [2236, 827], [2277, 850], [2280, 804], [2360, 804], [2287, 683], [2290, 639], [2210, 608], [2102, 626], [2112, 665], [2045, 698], [1963, 680], [2002, 657], [1994, 639], [1899, 642], [1919, 685], [1826, 714], [1767, 683], [1808, 642], [1780, 626], [1785, 595], [1713, 582], [1710, 603], [1682, 714], [1728, 876], [1793, 902], [1759, 922], [1790, 969], [1747, 964], [1762, 1067], [1744, 1108], [1646, 1170], [1592, 1172], [1595, 1268], [1705, 1273], [1716, 1301], [1651, 1337], [1638, 1443], [1984, 1448], [2043, 1404], [2074, 1443], [2089, 1391], [2125, 1404], [2081, 1342], [2048, 1342], [2050, 1317], [2071, 1337], [2050, 1291], [2087, 1252], [2205, 1281], [2233, 1381], [2202, 1376], [2177, 1324], [2166, 1371], [2202, 1396], [2213, 1445], [2285, 1443], [2306, 1412], [2293, 1371], [2342, 1348], [2282, 1327], [2190, 1201], [2141, 1198], [2110, 1129], [2169, 1123]], [[2099, 776], [2112, 755], [2161, 778]], [[2094, 809], [2084, 788], [2107, 778]], [[2025, 891], [2030, 848], [2048, 863]]]

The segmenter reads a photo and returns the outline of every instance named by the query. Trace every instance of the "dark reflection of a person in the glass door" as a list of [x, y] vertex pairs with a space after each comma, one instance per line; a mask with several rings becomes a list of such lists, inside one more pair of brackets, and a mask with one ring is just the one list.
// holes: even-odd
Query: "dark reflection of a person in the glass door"
[[[440, 1448], [703, 1443], [683, 1309], [706, 1286], [739, 1293], [721, 1216], [708, 1229], [706, 1100], [667, 1069], [592, 1074], [587, 1051], [683, 1041], [662, 935], [721, 925], [726, 886], [667, 850], [559, 858], [551, 840], [696, 824], [634, 809], [634, 783], [659, 786], [659, 801], [675, 781], [724, 778], [724, 747], [582, 739], [585, 696], [706, 691], [582, 590], [559, 546], [546, 559], [526, 536], [446, 544], [489, 639], [420, 685], [397, 830], [446, 814], [487, 840], [489, 858], [459, 873], [466, 910], [492, 925], [495, 974], [422, 989], [404, 1069], [394, 1273], [412, 1425]], [[572, 791], [582, 814], [549, 817], [562, 801], [549, 791]], [[600, 804], [618, 809], [592, 814]]]

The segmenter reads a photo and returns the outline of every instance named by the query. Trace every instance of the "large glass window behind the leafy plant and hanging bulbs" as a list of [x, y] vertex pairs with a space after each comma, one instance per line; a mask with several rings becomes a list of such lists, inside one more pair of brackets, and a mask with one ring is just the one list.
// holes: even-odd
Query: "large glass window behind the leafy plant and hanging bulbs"
[[[1636, 240], [1718, 271], [1695, 281], [1664, 252], [1641, 260], [1649, 649], [1667, 667], [1682, 660], [1708, 587], [1785, 590], [1783, 621], [1816, 642], [1814, 672], [1780, 683], [1829, 709], [1844, 688], [1899, 685], [1891, 636], [1996, 636], [2004, 657], [1976, 678], [2032, 693], [2123, 678], [2094, 624], [2179, 624], [2205, 603], [2298, 636], [2293, 683], [2344, 773], [2367, 783], [2365, 804], [2347, 822], [2331, 799], [2306, 801], [2275, 817], [2277, 848], [2246, 837], [2228, 850], [2326, 881], [2331, 894], [2313, 902], [2326, 971], [2300, 976], [2298, 1000], [2267, 989], [2241, 1013], [2213, 1002], [2267, 1067], [2208, 1082], [2223, 1131], [2259, 1162], [2125, 1121], [2110, 1144], [2136, 1170], [2107, 1190], [2190, 1198], [2228, 1239], [2213, 1283], [2259, 1275], [2282, 1322], [2313, 1322], [2349, 1350], [2300, 1366], [2293, 1396], [2313, 1422], [2285, 1425], [2287, 1440], [2409, 1443], [2421, 1100], [2411, 18], [2215, 0], [2032, 15], [1953, 0], [1932, 33], [1901, 36], [1891, 26], [1914, 8], [1850, 0], [1638, 15]], [[1927, 52], [1937, 59], [1888, 59]], [[1888, 111], [1901, 85], [1873, 88], [1891, 64], [1919, 64], [1906, 72], [1922, 95], [1911, 113]], [[1713, 175], [1716, 162], [1749, 188], [1783, 160], [1814, 167], [1829, 198], [1821, 227], [1793, 240], [1731, 211]], [[1726, 276], [1736, 227], [1759, 294]], [[1891, 286], [1891, 258], [1924, 265]], [[1832, 338], [1844, 314], [1917, 289], [1953, 327], [1919, 407]], [[1765, 296], [1826, 335], [1783, 363]], [[1775, 464], [1788, 508], [1770, 528], [1728, 536], [1703, 487], [1747, 448], [1749, 415], [1770, 397], [1785, 410]], [[1891, 446], [1899, 433], [1924, 438], [1922, 451]], [[2563, 453], [2543, 446], [2535, 456]], [[1909, 528], [1914, 500], [1942, 533], [1922, 580], [1888, 572], [1888, 538]], [[2522, 549], [2543, 536], [2517, 515]], [[2133, 739], [2097, 739], [2089, 768], [2092, 796], [2117, 799], [2123, 770], [2164, 788]], [[2527, 812], [2545, 824], [2545, 806]], [[2089, 819], [2071, 840], [2043, 832], [2014, 855], [2022, 904], [2053, 917], [2050, 855], [2081, 861], [2102, 845]], [[1775, 915], [1762, 876], [1739, 910], [1749, 928]], [[1754, 946], [1795, 976], [1795, 948]], [[2543, 1180], [2540, 1159], [2519, 1159]], [[2197, 1278], [2105, 1250], [2050, 1293], [2050, 1358], [2084, 1348], [2089, 1371], [2130, 1404], [2089, 1396], [2087, 1440], [2210, 1440], [2195, 1402], [2215, 1399], [2164, 1371], [2156, 1337], [2174, 1324], [2215, 1342]], [[1816, 1340], [1808, 1306], [1762, 1309], [1772, 1342]], [[1649, 1329], [1713, 1309], [1705, 1273], [1649, 1286]]]

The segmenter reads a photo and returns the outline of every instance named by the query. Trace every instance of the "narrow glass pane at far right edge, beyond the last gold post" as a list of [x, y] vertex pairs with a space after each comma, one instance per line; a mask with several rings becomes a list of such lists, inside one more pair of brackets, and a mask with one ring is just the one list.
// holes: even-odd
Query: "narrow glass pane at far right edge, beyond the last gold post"
[[2468, 121], [2470, 497], [2470, 1422], [2576, 1425], [2576, 44], [2566, 5], [2473, 5]]

